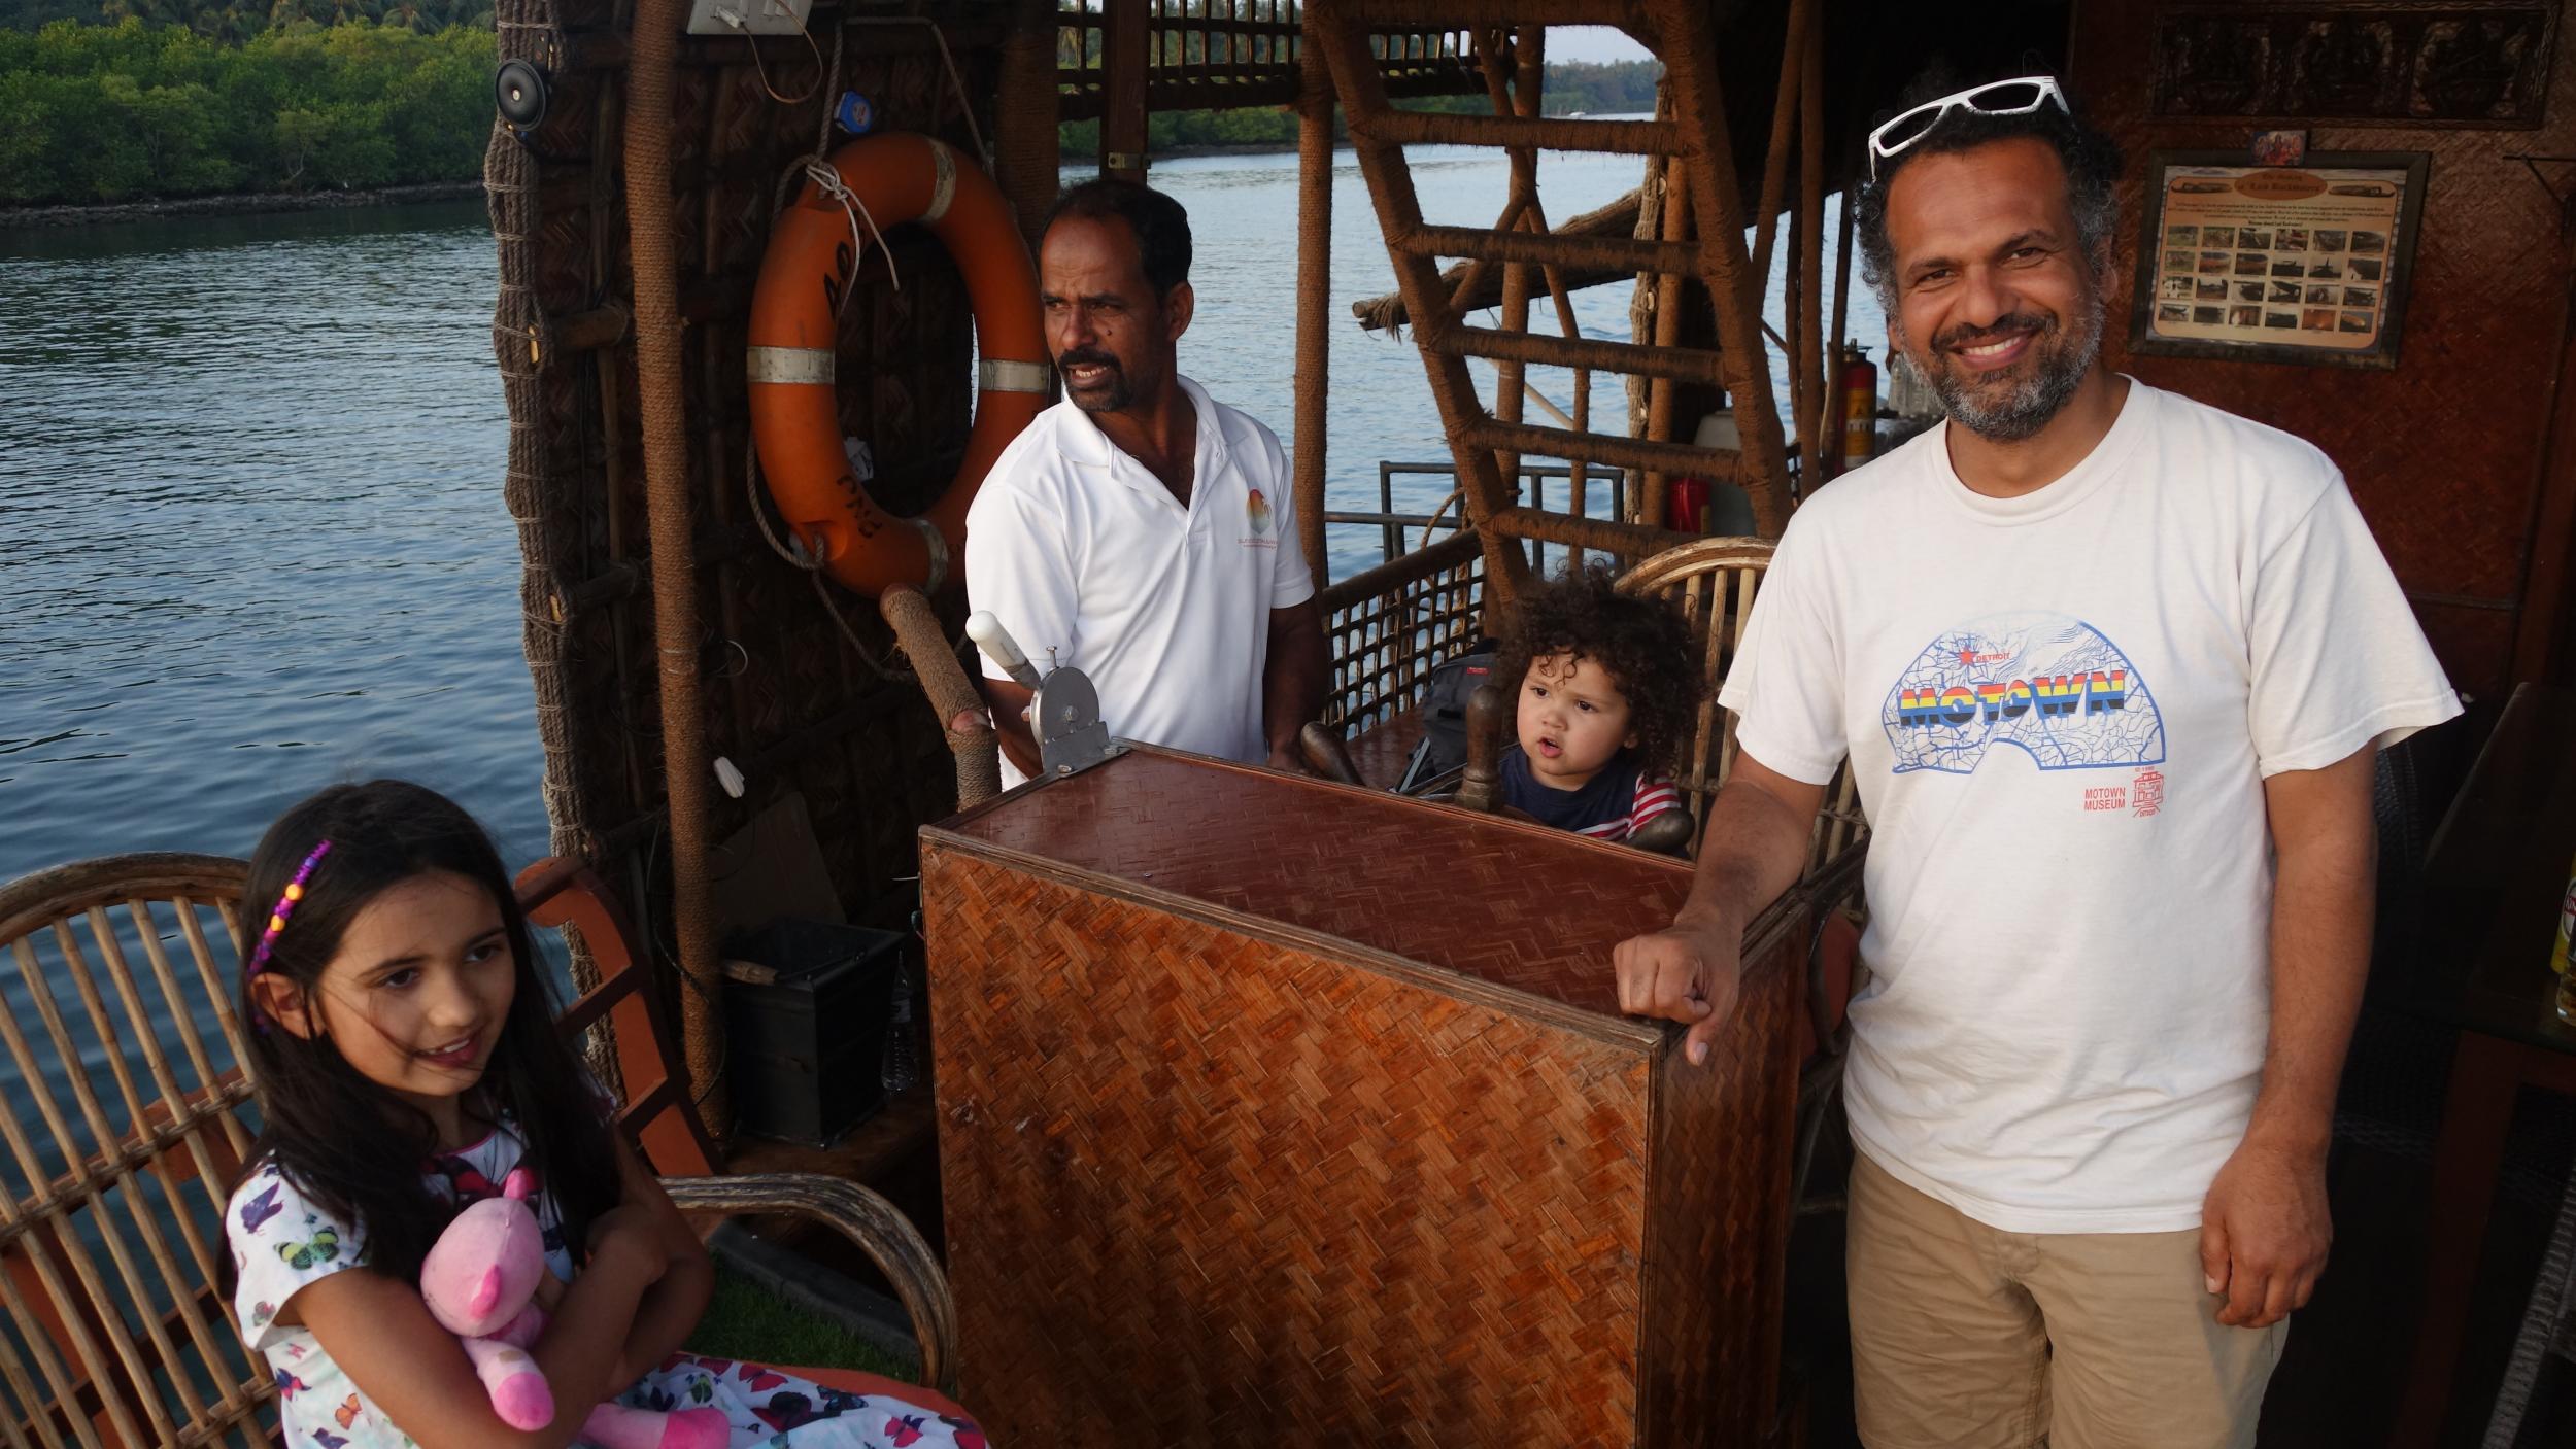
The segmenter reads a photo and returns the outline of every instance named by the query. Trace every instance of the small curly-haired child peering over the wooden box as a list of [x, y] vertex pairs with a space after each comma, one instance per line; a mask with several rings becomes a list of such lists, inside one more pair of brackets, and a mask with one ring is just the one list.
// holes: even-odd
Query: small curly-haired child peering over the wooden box
[[1520, 687], [1504, 806], [1618, 842], [1682, 808], [1669, 770], [1690, 739], [1700, 669], [1669, 607], [1620, 595], [1607, 566], [1569, 569], [1520, 605], [1494, 679]]

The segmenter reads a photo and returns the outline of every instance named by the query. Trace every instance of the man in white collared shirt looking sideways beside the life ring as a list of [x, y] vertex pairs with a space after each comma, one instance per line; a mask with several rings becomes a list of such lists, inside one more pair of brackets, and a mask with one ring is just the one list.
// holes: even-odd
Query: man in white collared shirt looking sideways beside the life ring
[[[1038, 247], [1064, 401], [994, 461], [966, 512], [966, 600], [1048, 669], [1100, 690], [1113, 736], [1296, 770], [1329, 654], [1267, 427], [1180, 376], [1190, 216], [1146, 185], [1056, 198]], [[1038, 770], [1028, 690], [992, 659], [1002, 782]]]

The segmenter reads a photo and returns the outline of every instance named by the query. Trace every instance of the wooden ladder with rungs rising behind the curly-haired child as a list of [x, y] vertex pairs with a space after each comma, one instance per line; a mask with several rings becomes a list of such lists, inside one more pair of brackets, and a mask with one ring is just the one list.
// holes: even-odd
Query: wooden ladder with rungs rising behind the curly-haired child
[[[1504, 602], [1528, 579], [1522, 540], [1600, 548], [1628, 558], [1656, 553], [1685, 535], [1662, 528], [1664, 481], [1672, 476], [1731, 479], [1744, 486], [1754, 528], [1780, 535], [1790, 510], [1788, 453], [1772, 407], [1762, 353], [1759, 275], [1744, 250], [1734, 149], [1718, 90], [1716, 33], [1705, 0], [1309, 0], [1306, 44], [1324, 51], [1340, 93], [1360, 172], [1386, 232], [1396, 286], [1432, 399], [1458, 466], [1466, 515], [1484, 538], [1486, 577]], [[1476, 26], [1492, 116], [1437, 116], [1388, 103], [1370, 36], [1432, 23]], [[1664, 59], [1672, 116], [1654, 121], [1543, 118], [1538, 113], [1543, 33], [1548, 26], [1618, 26]], [[1507, 80], [1510, 77], [1510, 80]], [[1499, 147], [1512, 157], [1512, 193], [1494, 226], [1430, 226], [1414, 193], [1406, 147]], [[1687, 214], [1659, 226], [1662, 239], [1556, 234], [1538, 208], [1538, 152], [1607, 152], [1664, 157], [1669, 193], [1687, 196]], [[1687, 216], [1687, 226], [1685, 226]], [[1461, 257], [1468, 275], [1453, 291], [1440, 257]], [[1471, 327], [1463, 301], [1484, 268], [1504, 268], [1502, 327]], [[1579, 337], [1564, 275], [1602, 268], [1662, 278], [1695, 278], [1716, 304], [1718, 347], [1672, 347]], [[1528, 329], [1530, 273], [1553, 293], [1561, 335]], [[1476, 396], [1466, 360], [1497, 365], [1494, 407]], [[1522, 422], [1528, 365], [1577, 371], [1574, 427]], [[1672, 438], [1628, 438], [1587, 425], [1589, 373], [1610, 371], [1669, 383], [1723, 386], [1739, 430], [1736, 450], [1698, 448]], [[1638, 517], [1582, 517], [1520, 504], [1520, 458], [1535, 453], [1577, 466], [1633, 468], [1646, 476]]]

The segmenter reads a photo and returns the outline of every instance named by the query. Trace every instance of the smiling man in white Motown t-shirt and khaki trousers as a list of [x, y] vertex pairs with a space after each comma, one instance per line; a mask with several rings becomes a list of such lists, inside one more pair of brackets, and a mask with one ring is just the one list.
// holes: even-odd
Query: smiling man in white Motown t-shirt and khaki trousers
[[1620, 1004], [1705, 1060], [1850, 757], [1862, 1441], [2246, 1446], [2331, 1235], [2372, 754], [2460, 705], [2324, 453], [2102, 368], [2120, 157], [2053, 80], [1870, 147], [1865, 270], [1950, 417], [1780, 538]]

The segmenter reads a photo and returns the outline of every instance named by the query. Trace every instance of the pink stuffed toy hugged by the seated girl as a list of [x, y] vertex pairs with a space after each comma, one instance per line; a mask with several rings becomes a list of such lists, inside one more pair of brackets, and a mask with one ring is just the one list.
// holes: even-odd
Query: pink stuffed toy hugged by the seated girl
[[[554, 1390], [528, 1356], [546, 1331], [536, 1307], [536, 1287], [546, 1277], [546, 1235], [536, 1225], [528, 1197], [536, 1179], [520, 1168], [487, 1197], [448, 1223], [420, 1264], [420, 1297], [430, 1315], [464, 1338], [474, 1374], [492, 1395], [492, 1413], [510, 1428], [554, 1423]], [[732, 1436], [721, 1410], [683, 1408], [649, 1413], [603, 1403], [582, 1421], [582, 1444], [598, 1449], [724, 1449]]]

